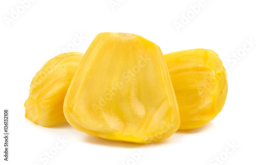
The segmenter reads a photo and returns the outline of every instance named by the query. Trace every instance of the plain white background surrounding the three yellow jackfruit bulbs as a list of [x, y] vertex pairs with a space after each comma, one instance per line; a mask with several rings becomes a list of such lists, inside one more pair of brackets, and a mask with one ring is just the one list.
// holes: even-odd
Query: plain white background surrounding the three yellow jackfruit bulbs
[[[109, 0], [37, 0], [23, 11], [18, 0], [1, 0], [1, 132], [4, 108], [10, 111], [10, 161], [3, 160], [1, 135], [1, 164], [44, 164], [47, 160], [39, 157], [56, 151], [62, 137], [69, 142], [45, 164], [255, 164], [255, 2], [205, 0], [194, 15], [190, 6], [200, 4], [199, 0], [114, 2], [119, 5], [113, 9]], [[18, 16], [13, 14], [17, 9]], [[185, 19], [183, 14], [190, 18], [177, 29], [175, 23]], [[191, 48], [216, 51], [228, 70], [229, 91], [222, 112], [201, 128], [178, 131], [153, 145], [108, 141], [68, 124], [45, 128], [27, 120], [24, 102], [35, 73], [64, 49], [86, 52], [101, 32], [141, 35], [158, 44], [163, 53]], [[243, 50], [246, 40], [254, 43]]]

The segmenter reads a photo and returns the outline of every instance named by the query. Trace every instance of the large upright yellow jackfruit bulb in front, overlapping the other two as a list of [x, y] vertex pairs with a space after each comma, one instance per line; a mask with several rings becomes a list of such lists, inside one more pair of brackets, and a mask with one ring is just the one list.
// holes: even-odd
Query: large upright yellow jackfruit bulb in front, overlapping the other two
[[134, 34], [96, 36], [71, 81], [63, 109], [77, 130], [114, 141], [161, 141], [180, 125], [160, 48]]

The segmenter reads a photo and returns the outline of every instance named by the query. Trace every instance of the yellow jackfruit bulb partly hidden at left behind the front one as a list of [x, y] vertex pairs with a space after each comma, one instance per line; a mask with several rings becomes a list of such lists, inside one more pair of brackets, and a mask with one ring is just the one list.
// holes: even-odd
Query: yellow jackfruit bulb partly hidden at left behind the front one
[[63, 102], [82, 57], [78, 52], [59, 54], [35, 74], [25, 102], [26, 118], [44, 127], [67, 122]]

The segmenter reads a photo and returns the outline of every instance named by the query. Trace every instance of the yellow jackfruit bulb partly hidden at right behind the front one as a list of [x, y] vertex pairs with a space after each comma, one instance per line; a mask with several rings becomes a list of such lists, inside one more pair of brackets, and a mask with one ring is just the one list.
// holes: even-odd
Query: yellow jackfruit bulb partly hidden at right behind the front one
[[218, 54], [191, 49], [164, 54], [177, 97], [179, 130], [200, 127], [214, 119], [227, 97], [227, 74]]

